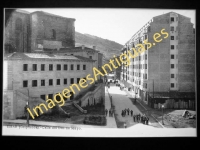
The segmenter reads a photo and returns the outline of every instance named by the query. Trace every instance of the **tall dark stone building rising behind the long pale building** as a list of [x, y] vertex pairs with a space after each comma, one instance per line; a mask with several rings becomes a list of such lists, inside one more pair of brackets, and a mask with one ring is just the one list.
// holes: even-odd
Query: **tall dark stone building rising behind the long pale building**
[[5, 53], [74, 47], [74, 21], [42, 11], [15, 10], [5, 24]]

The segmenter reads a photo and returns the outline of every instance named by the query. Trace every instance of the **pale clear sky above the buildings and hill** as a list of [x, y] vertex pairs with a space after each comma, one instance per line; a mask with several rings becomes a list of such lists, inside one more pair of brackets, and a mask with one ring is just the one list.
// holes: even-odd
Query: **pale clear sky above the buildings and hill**
[[122, 45], [154, 16], [173, 11], [191, 18], [194, 27], [196, 20], [195, 10], [189, 9], [21, 8], [20, 10], [44, 11], [67, 18], [75, 18], [75, 31], [115, 41]]

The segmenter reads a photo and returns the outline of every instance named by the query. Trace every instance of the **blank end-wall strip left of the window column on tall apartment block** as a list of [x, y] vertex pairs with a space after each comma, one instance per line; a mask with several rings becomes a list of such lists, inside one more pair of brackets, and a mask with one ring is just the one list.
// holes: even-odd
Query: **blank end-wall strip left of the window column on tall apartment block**
[[[169, 15], [161, 15], [153, 18], [151, 23], [151, 31], [148, 32], [148, 42], [155, 43], [148, 49], [148, 91], [163, 92], [168, 91], [170, 86], [170, 35], [164, 39], [165, 35], [161, 34], [161, 30], [165, 29], [165, 32], [170, 33]], [[153, 39], [155, 33], [161, 34], [159, 39], [163, 39], [161, 42], [156, 43]]]

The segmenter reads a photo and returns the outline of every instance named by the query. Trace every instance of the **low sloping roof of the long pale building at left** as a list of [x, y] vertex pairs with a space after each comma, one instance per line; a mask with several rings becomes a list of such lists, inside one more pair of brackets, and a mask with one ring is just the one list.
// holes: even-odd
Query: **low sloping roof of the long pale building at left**
[[75, 55], [56, 55], [50, 53], [19, 53], [5, 54], [4, 59], [9, 60], [26, 60], [26, 59], [50, 59], [50, 60], [82, 60], [82, 61], [95, 61], [90, 58], [75, 56]]

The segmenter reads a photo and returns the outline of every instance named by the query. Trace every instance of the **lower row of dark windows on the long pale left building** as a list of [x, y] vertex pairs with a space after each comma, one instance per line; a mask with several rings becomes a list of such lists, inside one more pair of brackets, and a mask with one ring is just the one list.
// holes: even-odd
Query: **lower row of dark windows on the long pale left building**
[[[80, 78], [77, 78], [76, 82], [79, 83], [79, 81]], [[32, 80], [32, 87], [37, 87], [39, 85], [38, 82], [39, 82], [38, 80]], [[67, 78], [64, 78], [62, 82], [63, 85], [67, 85]], [[56, 79], [55, 83], [56, 85], [61, 85], [61, 79]], [[70, 79], [70, 84], [74, 84], [74, 78]], [[53, 79], [49, 79], [48, 86], [53, 86], [53, 85], [54, 85]], [[40, 86], [46, 86], [45, 79], [40, 80]], [[28, 87], [28, 80], [23, 80], [23, 87]]]

